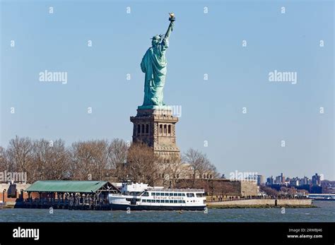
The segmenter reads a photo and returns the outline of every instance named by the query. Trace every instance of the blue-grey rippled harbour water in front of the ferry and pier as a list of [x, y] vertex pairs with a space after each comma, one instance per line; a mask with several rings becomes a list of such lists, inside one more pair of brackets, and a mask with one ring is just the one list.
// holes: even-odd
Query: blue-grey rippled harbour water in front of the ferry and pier
[[0, 209], [0, 222], [335, 222], [335, 201], [317, 208], [233, 208], [201, 211], [82, 211]]

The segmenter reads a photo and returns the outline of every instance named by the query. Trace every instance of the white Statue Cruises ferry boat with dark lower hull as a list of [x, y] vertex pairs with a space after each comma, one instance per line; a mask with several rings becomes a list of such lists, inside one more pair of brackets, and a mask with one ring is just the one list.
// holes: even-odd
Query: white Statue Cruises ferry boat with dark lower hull
[[112, 210], [204, 210], [204, 189], [163, 189], [124, 183], [121, 193], [108, 195]]

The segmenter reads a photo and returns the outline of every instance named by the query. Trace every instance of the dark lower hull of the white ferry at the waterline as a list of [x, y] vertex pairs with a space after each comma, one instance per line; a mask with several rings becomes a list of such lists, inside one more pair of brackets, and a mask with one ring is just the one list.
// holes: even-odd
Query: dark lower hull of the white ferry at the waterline
[[203, 206], [158, 206], [158, 205], [129, 205], [129, 204], [110, 204], [112, 210], [192, 210], [204, 211]]

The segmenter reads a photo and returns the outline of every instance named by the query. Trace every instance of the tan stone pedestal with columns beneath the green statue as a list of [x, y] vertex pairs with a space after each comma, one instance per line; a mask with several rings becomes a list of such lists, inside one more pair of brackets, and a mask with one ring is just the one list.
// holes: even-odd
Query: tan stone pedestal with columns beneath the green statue
[[134, 124], [133, 142], [142, 141], [151, 148], [155, 154], [169, 162], [172, 155], [180, 156], [180, 149], [176, 145], [175, 124], [178, 121], [172, 116], [169, 107], [137, 109], [136, 116], [131, 116]]

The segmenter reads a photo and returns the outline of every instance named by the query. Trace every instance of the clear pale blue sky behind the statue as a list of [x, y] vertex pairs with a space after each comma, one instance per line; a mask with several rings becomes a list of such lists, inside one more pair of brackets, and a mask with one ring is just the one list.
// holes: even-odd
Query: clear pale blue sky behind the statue
[[[334, 180], [333, 1], [1, 0], [0, 144], [16, 135], [131, 141], [141, 59], [169, 12], [164, 95], [182, 107], [182, 152], [203, 151], [226, 176]], [[41, 82], [45, 70], [67, 72], [67, 83]], [[297, 83], [269, 81], [275, 70]]]

